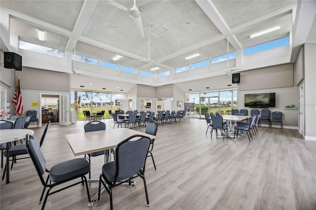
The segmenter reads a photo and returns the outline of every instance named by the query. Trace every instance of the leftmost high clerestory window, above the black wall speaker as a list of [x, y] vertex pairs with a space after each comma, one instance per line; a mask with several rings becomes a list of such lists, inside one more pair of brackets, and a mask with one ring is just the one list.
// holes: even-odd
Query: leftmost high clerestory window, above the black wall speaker
[[47, 55], [53, 55], [53, 56], [57, 56], [61, 58], [65, 57], [65, 51], [63, 50], [58, 50], [51, 47], [45, 47], [42, 45], [33, 44], [30, 42], [21, 41], [21, 40], [19, 41], [19, 48], [24, 49], [24, 50], [30, 50], [33, 52], [43, 53]]

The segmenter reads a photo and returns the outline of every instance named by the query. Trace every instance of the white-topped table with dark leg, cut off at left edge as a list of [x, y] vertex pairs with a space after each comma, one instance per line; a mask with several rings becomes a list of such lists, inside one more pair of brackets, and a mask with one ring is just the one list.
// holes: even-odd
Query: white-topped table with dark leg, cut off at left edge
[[24, 139], [26, 135], [33, 135], [31, 129], [4, 129], [0, 130], [0, 143], [6, 143], [6, 183], [10, 182], [10, 142]]

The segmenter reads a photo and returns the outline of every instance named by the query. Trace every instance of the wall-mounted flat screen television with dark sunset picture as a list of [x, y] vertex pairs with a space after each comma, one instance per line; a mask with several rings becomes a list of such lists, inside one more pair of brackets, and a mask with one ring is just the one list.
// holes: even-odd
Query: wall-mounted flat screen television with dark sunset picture
[[245, 107], [276, 107], [276, 93], [245, 94]]

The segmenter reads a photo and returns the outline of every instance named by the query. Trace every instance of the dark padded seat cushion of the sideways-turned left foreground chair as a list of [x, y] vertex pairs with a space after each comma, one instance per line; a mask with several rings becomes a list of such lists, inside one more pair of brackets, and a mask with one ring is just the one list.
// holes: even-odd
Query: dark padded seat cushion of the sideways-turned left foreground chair
[[90, 171], [89, 162], [84, 158], [65, 161], [51, 167], [49, 177], [52, 182], [61, 182], [67, 179], [86, 175]]

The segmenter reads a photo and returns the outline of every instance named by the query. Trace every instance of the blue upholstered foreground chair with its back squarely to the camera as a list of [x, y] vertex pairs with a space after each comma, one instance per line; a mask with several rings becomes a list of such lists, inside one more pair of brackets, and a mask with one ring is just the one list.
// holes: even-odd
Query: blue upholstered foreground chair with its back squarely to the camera
[[[150, 138], [135, 135], [118, 143], [116, 148], [116, 160], [106, 163], [102, 167], [102, 174], [99, 181], [98, 201], [100, 201], [101, 184], [110, 195], [110, 207], [113, 210], [112, 188], [131, 179], [141, 177], [144, 181], [147, 206], [149, 199], [145, 179], [145, 164], [150, 146]], [[136, 152], [137, 151], [137, 152]]]

